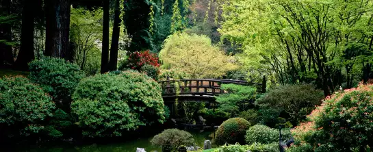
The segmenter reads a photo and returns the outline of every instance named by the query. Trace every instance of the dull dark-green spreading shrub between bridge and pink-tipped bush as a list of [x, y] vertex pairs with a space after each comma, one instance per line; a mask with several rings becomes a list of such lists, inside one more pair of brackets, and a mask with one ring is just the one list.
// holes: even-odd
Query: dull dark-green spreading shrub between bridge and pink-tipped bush
[[[285, 113], [293, 124], [299, 123], [309, 114], [315, 105], [320, 105], [324, 97], [321, 90], [309, 84], [278, 86], [256, 101], [262, 110], [271, 114], [263, 114], [266, 122], [273, 122], [276, 117]], [[276, 116], [277, 115], [277, 116]], [[266, 118], [270, 116], [272, 118]], [[275, 116], [275, 117], [274, 117]]]

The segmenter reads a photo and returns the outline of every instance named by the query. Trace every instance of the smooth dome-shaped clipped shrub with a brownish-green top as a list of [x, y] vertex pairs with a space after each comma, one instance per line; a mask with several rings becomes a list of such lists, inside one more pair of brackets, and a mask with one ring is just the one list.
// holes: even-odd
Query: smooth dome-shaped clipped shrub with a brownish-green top
[[216, 144], [235, 144], [236, 142], [244, 144], [244, 136], [250, 123], [243, 118], [230, 118], [224, 121], [216, 131]]

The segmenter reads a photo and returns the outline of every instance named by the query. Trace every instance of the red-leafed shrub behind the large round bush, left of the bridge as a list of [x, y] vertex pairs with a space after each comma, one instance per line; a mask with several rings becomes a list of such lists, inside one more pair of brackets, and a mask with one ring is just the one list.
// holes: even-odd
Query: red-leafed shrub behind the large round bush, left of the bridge
[[132, 70], [140, 71], [144, 65], [152, 65], [159, 67], [157, 54], [151, 53], [149, 50], [143, 52], [133, 52], [129, 55], [128, 59], [123, 61], [119, 67], [119, 70], [125, 68], [131, 68]]

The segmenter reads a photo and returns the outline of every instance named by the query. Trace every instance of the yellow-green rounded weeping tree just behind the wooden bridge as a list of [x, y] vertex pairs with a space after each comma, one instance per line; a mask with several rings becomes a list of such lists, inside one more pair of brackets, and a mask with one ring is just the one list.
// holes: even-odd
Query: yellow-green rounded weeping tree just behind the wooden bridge
[[191, 78], [222, 77], [236, 68], [234, 58], [211, 45], [207, 36], [179, 32], [165, 40], [159, 59], [163, 68], [176, 68]]

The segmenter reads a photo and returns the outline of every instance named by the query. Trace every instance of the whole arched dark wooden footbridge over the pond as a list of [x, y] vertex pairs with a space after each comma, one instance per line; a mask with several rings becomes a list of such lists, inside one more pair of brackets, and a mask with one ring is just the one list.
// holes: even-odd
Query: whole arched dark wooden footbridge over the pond
[[227, 93], [221, 84], [256, 86], [258, 92], [266, 92], [266, 77], [263, 84], [232, 79], [174, 79], [159, 81], [162, 86], [164, 102], [179, 101], [215, 101], [215, 96]]

